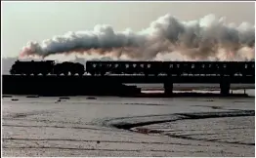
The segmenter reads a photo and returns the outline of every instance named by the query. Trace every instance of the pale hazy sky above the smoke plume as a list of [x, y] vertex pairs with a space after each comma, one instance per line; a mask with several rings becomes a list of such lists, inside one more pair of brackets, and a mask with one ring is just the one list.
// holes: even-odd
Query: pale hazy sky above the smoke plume
[[236, 24], [254, 23], [254, 2], [1, 2], [2, 56], [16, 57], [28, 41], [42, 41], [67, 31], [109, 24], [115, 30], [139, 31], [171, 14], [197, 20], [214, 14]]

